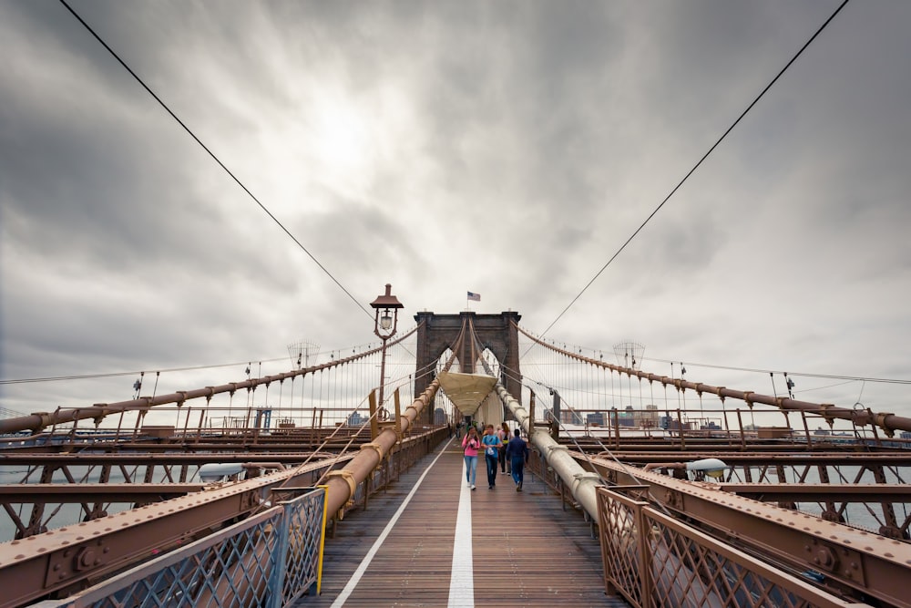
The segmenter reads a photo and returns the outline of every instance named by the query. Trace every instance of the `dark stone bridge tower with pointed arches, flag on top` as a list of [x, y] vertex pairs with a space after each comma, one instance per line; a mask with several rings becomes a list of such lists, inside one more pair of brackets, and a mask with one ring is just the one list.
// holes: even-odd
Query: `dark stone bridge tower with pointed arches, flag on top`
[[[470, 311], [459, 314], [415, 314], [415, 321], [418, 324], [417, 366], [415, 368], [418, 371], [415, 373], [415, 395], [423, 393], [431, 382], [431, 377], [426, 374], [420, 375], [419, 370], [435, 366], [445, 350], [455, 345], [455, 340], [462, 331], [462, 325], [467, 322], [474, 325], [475, 335], [481, 343], [481, 350], [476, 351], [476, 355], [480, 356], [485, 348], [490, 349], [490, 352], [499, 361], [501, 369], [506, 367], [509, 370], [508, 376], [499, 378], [500, 382], [510, 395], [521, 402], [522, 376], [518, 366], [518, 330], [516, 328], [521, 318], [520, 314], [512, 311], [500, 314], [476, 314]], [[462, 352], [456, 353], [455, 356], [462, 366], [463, 373], [475, 372], [476, 361], [472, 358], [470, 341], [466, 340]], [[433, 412], [428, 411], [425, 422], [432, 419]]]

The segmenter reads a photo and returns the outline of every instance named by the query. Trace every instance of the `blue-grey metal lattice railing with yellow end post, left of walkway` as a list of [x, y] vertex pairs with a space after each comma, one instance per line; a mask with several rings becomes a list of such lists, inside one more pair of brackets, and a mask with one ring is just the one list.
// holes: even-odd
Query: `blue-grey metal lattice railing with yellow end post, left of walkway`
[[318, 584], [324, 489], [283, 501], [223, 531], [42, 608], [287, 606]]

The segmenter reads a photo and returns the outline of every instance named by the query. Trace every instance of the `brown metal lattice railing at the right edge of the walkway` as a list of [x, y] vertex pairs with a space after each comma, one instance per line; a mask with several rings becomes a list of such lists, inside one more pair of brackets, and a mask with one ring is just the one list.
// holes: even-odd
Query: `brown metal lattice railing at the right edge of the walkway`
[[653, 509], [638, 500], [647, 489], [597, 491], [607, 593], [637, 608], [857, 605]]

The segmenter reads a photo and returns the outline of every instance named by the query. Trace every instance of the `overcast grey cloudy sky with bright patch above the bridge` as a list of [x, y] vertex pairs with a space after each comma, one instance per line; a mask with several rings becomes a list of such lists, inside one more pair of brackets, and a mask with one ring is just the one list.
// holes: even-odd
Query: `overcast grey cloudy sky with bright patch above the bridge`
[[[473, 291], [538, 333], [839, 4], [71, 2], [358, 303], [392, 283], [410, 325]], [[905, 0], [847, 5], [548, 335], [911, 378], [909, 23]], [[0, 209], [5, 381], [374, 338], [51, 0], [0, 0]], [[133, 379], [5, 384], [0, 407]], [[835, 397], [861, 390], [911, 416], [905, 386]]]

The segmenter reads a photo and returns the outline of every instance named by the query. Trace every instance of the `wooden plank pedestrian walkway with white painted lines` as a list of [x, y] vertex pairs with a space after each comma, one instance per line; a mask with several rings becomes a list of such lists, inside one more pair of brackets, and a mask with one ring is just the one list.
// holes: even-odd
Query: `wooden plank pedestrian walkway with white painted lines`
[[517, 492], [497, 471], [487, 489], [481, 455], [476, 486], [460, 444], [445, 441], [327, 531], [322, 593], [295, 605], [629, 605], [604, 593], [594, 524], [540, 479], [526, 471]]

